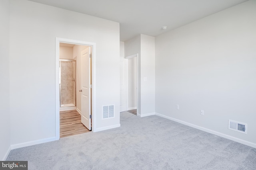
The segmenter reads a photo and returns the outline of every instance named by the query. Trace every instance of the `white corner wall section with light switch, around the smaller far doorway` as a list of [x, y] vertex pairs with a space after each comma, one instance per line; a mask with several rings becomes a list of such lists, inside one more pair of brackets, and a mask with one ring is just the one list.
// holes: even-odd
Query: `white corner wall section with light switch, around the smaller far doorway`
[[[124, 42], [125, 57], [138, 53], [139, 116], [155, 114], [155, 38], [140, 34]], [[144, 80], [146, 78], [146, 80]]]

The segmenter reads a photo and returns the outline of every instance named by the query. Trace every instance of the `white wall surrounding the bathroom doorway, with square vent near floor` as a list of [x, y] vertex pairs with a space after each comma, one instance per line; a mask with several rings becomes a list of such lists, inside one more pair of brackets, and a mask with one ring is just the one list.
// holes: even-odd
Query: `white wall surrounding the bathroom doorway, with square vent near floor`
[[[55, 138], [56, 37], [96, 43], [92, 59], [96, 63], [94, 131], [120, 126], [119, 23], [27, 0], [10, 0], [13, 147]], [[102, 106], [110, 104], [116, 106], [115, 117], [103, 120]]]

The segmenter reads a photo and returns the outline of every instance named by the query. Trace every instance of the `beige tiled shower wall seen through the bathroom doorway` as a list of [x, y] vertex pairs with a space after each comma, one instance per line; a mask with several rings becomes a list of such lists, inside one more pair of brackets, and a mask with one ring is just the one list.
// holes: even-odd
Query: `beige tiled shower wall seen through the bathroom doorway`
[[74, 104], [75, 97], [75, 62], [60, 61], [60, 104]]

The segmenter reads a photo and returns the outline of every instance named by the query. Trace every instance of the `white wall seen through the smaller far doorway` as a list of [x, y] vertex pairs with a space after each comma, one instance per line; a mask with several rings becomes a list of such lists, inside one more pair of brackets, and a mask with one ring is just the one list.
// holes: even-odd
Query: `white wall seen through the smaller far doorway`
[[127, 60], [127, 110], [137, 109], [137, 57]]

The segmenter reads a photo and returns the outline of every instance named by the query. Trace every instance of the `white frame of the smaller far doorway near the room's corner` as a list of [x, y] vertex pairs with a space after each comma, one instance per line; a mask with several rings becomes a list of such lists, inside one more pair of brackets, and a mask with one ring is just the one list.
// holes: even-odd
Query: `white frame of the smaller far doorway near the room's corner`
[[[131, 58], [134, 58], [134, 57], [137, 57], [137, 89], [136, 89], [136, 93], [137, 93], [137, 116], [139, 116], [140, 114], [138, 114], [138, 111], [140, 110], [140, 106], [139, 106], [139, 96], [138, 96], [138, 90], [139, 90], [139, 86], [138, 86], [138, 80], [139, 80], [139, 74], [138, 74], [138, 69], [139, 69], [139, 59], [138, 59], [138, 53], [137, 54], [134, 54], [134, 55], [129, 55], [129, 56], [125, 56], [124, 59], [131, 59]], [[127, 100], [128, 100], [128, 90], [127, 90], [127, 82], [128, 82], [128, 61], [126, 61], [127, 65], [126, 65], [126, 109], [128, 108], [127, 106]], [[127, 111], [127, 110], [126, 110]]]

